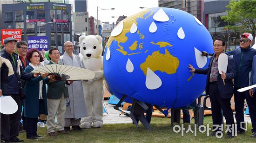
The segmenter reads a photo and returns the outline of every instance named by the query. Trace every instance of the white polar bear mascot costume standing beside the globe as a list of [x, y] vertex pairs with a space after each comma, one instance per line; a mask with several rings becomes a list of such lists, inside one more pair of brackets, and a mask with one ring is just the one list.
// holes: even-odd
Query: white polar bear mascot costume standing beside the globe
[[79, 37], [80, 53], [79, 57], [86, 69], [94, 71], [94, 79], [83, 81], [83, 91], [87, 116], [81, 118], [82, 128], [103, 126], [103, 57], [102, 38], [98, 35], [82, 35]]

